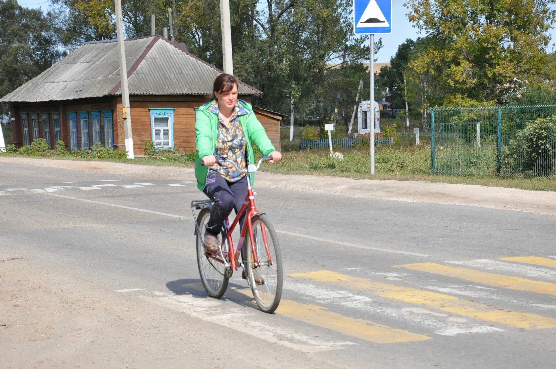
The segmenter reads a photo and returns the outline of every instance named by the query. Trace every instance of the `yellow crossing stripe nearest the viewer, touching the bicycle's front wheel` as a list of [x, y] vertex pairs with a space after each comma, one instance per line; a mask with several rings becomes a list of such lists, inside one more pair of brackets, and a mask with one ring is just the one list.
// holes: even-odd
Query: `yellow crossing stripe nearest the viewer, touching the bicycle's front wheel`
[[[252, 297], [251, 290], [236, 291]], [[383, 326], [364, 319], [343, 316], [322, 306], [304, 304], [291, 300], [281, 300], [276, 314], [373, 343], [430, 340], [430, 337], [417, 333]]]

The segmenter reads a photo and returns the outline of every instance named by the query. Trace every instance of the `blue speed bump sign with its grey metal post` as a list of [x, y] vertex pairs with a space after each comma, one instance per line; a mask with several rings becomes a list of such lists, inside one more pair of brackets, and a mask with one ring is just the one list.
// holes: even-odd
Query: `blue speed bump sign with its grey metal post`
[[355, 34], [370, 34], [370, 173], [375, 174], [375, 34], [392, 32], [392, 0], [354, 0], [353, 31]]

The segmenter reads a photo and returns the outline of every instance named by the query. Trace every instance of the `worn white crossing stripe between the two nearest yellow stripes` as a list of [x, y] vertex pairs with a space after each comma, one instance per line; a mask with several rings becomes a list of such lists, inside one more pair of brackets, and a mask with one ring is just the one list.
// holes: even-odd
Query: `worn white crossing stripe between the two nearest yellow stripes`
[[366, 316], [368, 316], [368, 314], [379, 314], [394, 317], [427, 328], [432, 328], [434, 333], [441, 336], [504, 331], [500, 328], [481, 326], [473, 322], [467, 322], [467, 320], [463, 318], [454, 320], [448, 314], [435, 313], [422, 308], [391, 308], [381, 305], [373, 298], [367, 296], [355, 295], [349, 291], [316, 286], [311, 283], [287, 280], [284, 283], [284, 287], [307, 296], [307, 300], [313, 303], [341, 305], [364, 312]]

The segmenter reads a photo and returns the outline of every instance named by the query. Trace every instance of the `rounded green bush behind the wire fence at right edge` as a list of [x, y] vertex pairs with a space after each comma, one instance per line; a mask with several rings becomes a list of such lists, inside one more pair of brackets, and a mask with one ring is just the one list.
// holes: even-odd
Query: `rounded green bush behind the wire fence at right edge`
[[556, 116], [529, 122], [504, 148], [505, 171], [549, 176], [556, 154]]

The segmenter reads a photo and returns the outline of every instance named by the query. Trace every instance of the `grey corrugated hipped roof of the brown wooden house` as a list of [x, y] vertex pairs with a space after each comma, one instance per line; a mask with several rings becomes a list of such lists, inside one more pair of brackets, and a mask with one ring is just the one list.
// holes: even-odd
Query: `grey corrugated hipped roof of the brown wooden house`
[[[155, 43], [148, 50], [151, 42]], [[120, 82], [117, 47], [117, 42], [83, 44], [0, 101], [38, 102], [106, 96]], [[128, 72], [132, 70], [128, 79], [130, 94], [210, 94], [214, 79], [221, 73], [160, 36], [126, 40], [125, 48]], [[112, 93], [121, 92], [118, 88]], [[242, 83], [239, 93], [261, 92]]]

